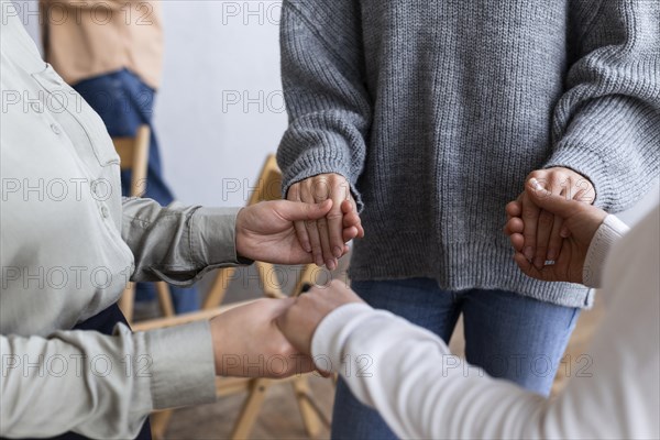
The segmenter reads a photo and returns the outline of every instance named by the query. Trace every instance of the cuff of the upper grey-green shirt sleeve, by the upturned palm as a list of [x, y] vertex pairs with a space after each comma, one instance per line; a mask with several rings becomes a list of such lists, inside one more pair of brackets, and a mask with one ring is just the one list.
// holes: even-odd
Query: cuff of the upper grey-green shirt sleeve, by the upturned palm
[[237, 216], [241, 209], [199, 208], [195, 211], [190, 223], [191, 252], [207, 271], [253, 263], [237, 253]]

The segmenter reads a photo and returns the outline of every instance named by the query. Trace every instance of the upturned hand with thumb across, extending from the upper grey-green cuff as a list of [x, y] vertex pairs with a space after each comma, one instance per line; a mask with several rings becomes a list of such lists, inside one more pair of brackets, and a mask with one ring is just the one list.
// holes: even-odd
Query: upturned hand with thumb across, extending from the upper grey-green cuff
[[[262, 201], [243, 208], [237, 217], [237, 252], [251, 260], [274, 264], [312, 263], [312, 255], [300, 244], [294, 224], [322, 219], [331, 209], [330, 200], [319, 205], [287, 200]], [[341, 209], [342, 207], [340, 212]], [[345, 242], [359, 234], [360, 218], [356, 213], [349, 213], [340, 220], [341, 249], [344, 254], [348, 252]]]

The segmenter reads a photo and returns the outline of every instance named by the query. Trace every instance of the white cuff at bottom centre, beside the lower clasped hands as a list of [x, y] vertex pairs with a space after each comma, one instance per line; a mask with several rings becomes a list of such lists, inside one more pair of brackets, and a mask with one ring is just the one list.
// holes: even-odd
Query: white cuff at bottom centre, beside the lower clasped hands
[[317, 367], [339, 373], [346, 340], [362, 318], [373, 312], [374, 309], [364, 302], [350, 302], [328, 314], [311, 338], [311, 355]]

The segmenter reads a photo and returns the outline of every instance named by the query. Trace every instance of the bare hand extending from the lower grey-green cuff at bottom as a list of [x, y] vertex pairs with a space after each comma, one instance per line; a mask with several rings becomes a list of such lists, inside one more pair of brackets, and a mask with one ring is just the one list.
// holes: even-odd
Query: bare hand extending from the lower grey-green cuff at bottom
[[216, 374], [239, 377], [287, 377], [314, 370], [282, 334], [275, 318], [294, 299], [258, 299], [211, 319]]

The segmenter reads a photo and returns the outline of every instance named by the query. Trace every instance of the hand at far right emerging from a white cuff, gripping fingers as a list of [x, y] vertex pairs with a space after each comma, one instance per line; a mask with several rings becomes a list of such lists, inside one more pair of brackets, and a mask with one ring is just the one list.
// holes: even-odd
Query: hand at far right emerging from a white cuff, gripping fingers
[[[562, 221], [562, 239], [559, 254], [554, 257], [553, 265], [538, 268], [522, 251], [526, 246], [527, 231], [524, 218], [524, 206], [535, 205]], [[529, 206], [528, 205], [528, 206]], [[546, 190], [536, 179], [531, 178], [519, 200], [506, 206], [508, 221], [504, 231], [509, 235], [516, 251], [514, 260], [518, 267], [532, 278], [546, 282], [586, 283], [588, 268], [584, 267], [584, 258], [591, 241], [607, 213], [596, 207], [576, 200], [566, 199], [565, 196], [554, 195]]]

